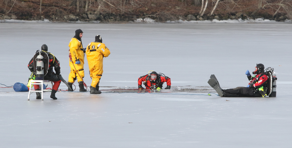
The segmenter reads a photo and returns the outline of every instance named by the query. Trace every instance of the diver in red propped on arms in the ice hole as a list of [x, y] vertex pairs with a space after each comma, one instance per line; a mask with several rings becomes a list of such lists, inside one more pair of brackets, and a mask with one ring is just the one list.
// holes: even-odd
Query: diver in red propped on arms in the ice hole
[[164, 82], [167, 83], [167, 87], [165, 89], [170, 89], [171, 86], [171, 81], [169, 77], [165, 75], [162, 76], [162, 73], [157, 74], [157, 72], [154, 71], [150, 74], [146, 74], [145, 76], [140, 76], [140, 78], [138, 78], [138, 89], [144, 89], [142, 87], [142, 82], [145, 85], [146, 89], [151, 90], [162, 89], [162, 85]]

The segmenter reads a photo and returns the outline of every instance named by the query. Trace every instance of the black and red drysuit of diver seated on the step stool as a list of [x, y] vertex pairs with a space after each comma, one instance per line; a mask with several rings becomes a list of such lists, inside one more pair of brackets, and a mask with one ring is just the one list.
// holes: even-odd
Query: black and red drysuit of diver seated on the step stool
[[[46, 51], [43, 51], [43, 52], [46, 52]], [[44, 80], [53, 81], [54, 84], [53, 84], [52, 90], [57, 91], [61, 83], [61, 80], [57, 77], [57, 75], [61, 73], [60, 62], [57, 60], [57, 58], [53, 54], [49, 52], [46, 52], [46, 53], [48, 54], [48, 57], [49, 57], [49, 69], [48, 69], [48, 73], [44, 76]], [[27, 67], [30, 70], [30, 72], [34, 71], [33, 58], [29, 61]], [[56, 73], [53, 72], [53, 67]], [[34, 85], [34, 89], [35, 90], [40, 89], [39, 85]]]

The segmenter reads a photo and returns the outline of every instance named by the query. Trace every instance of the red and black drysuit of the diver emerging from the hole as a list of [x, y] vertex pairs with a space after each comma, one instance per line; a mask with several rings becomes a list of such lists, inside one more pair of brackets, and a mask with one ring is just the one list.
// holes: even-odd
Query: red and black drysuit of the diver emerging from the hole
[[164, 82], [166, 82], [167, 86], [171, 86], [171, 81], [169, 77], [164, 77], [161, 76], [160, 74], [157, 77], [157, 81], [156, 83], [152, 83], [150, 80], [150, 75], [145, 75], [145, 76], [141, 76], [140, 78], [138, 78], [138, 86], [142, 85], [142, 82], [145, 82], [145, 87], [146, 89], [156, 89], [156, 88], [161, 88], [162, 89], [162, 85]]

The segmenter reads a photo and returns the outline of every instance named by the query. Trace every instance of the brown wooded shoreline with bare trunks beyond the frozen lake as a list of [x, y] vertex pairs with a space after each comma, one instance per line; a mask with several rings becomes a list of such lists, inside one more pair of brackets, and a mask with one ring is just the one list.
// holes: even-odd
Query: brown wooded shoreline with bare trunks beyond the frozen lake
[[0, 4], [0, 17], [16, 15], [18, 19], [81, 16], [88, 11], [103, 16], [131, 15], [134, 19], [166, 20], [190, 14], [207, 19], [238, 13], [247, 18], [284, 16], [292, 19], [291, 0], [0, 0]]

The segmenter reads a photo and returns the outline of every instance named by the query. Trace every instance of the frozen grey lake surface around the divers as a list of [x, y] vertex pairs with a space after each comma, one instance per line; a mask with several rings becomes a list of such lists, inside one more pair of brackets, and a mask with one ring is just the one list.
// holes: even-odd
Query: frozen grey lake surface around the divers
[[[0, 147], [291, 147], [291, 24], [1, 23], [0, 83], [27, 84], [27, 64], [42, 44], [67, 81], [68, 44], [79, 28], [84, 47], [99, 34], [111, 51], [104, 93], [57, 92], [53, 100], [45, 92], [44, 101], [34, 93], [27, 101], [28, 92], [0, 88]], [[276, 98], [206, 95], [215, 92], [211, 74], [223, 89], [246, 86], [257, 63], [274, 68]], [[90, 86], [87, 60], [84, 70]], [[149, 70], [170, 77], [171, 90], [105, 93], [138, 88]]]

